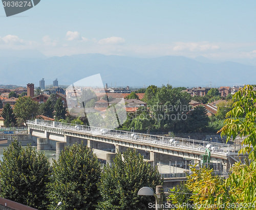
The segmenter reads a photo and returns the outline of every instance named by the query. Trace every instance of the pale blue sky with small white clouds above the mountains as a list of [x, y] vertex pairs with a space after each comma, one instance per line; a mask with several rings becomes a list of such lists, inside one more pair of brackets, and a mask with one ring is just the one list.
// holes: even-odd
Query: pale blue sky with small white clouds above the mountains
[[255, 0], [41, 0], [10, 17], [1, 5], [0, 52], [255, 59], [255, 20]]

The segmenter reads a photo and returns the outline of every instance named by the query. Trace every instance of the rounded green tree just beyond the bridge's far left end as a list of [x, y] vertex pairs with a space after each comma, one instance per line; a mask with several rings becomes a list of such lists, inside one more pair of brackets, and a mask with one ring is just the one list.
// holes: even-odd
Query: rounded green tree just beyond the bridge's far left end
[[33, 101], [31, 97], [24, 96], [18, 98], [14, 107], [14, 114], [17, 117], [18, 124], [26, 123], [26, 120], [35, 118], [38, 115], [39, 103]]

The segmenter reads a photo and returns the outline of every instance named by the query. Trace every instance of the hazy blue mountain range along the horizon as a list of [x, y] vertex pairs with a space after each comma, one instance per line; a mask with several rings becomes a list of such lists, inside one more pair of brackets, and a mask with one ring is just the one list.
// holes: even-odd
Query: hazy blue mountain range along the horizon
[[0, 84], [26, 86], [45, 78], [51, 85], [58, 78], [60, 85], [70, 85], [97, 73], [109, 87], [161, 86], [175, 87], [232, 86], [256, 84], [256, 65], [219, 62], [204, 57], [189, 59], [181, 56], [132, 58], [85, 54], [46, 58], [38, 53], [31, 58], [0, 53]]

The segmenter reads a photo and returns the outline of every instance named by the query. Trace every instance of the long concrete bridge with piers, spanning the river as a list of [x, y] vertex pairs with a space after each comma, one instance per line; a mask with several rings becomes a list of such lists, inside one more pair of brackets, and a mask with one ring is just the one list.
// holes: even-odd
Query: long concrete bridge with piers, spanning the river
[[[163, 159], [182, 158], [201, 163], [206, 147], [211, 152], [211, 162], [222, 164], [224, 170], [228, 170], [236, 161], [239, 161], [238, 151], [241, 145], [231, 145], [200, 140], [163, 137], [140, 133], [124, 132], [100, 127], [75, 125], [69, 123], [36, 119], [28, 121], [29, 134], [37, 136], [38, 149], [46, 149], [48, 140], [56, 141], [56, 153], [66, 145], [82, 141], [93, 148], [94, 152], [111, 163], [115, 153], [122, 152], [126, 148], [134, 148], [140, 151], [144, 158], [152, 163]], [[109, 151], [106, 151], [109, 150]], [[148, 155], [150, 154], [150, 155]], [[98, 156], [98, 158], [99, 158]], [[102, 158], [102, 159], [103, 159]]]

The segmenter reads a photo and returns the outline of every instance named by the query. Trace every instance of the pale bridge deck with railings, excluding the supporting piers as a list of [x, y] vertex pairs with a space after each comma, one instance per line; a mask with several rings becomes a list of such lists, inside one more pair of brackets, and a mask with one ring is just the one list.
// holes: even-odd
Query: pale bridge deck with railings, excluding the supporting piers
[[234, 148], [241, 147], [241, 145], [237, 145], [235, 147], [234, 145], [217, 142], [205, 142], [194, 139], [147, 135], [125, 132], [121, 130], [112, 130], [100, 127], [75, 125], [39, 119], [36, 119], [35, 121], [28, 121], [27, 124], [29, 127], [33, 127], [33, 129], [35, 128], [35, 125], [38, 125], [41, 127], [41, 130], [48, 130], [50, 132], [55, 132], [56, 134], [61, 135], [65, 135], [67, 132], [79, 133], [99, 138], [109, 138], [113, 140], [133, 142], [137, 144], [156, 146], [163, 149], [191, 152], [195, 154], [204, 154], [206, 147], [209, 147], [212, 156], [222, 157], [225, 159], [227, 159], [227, 157], [230, 155], [237, 154], [237, 151], [234, 151]]

